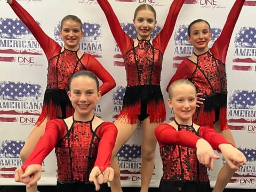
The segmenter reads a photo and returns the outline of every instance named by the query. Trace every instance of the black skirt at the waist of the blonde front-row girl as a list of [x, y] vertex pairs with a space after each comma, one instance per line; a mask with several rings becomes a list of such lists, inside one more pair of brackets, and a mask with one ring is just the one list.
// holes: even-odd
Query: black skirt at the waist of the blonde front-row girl
[[159, 192], [210, 192], [210, 181], [173, 181], [162, 180], [159, 186]]

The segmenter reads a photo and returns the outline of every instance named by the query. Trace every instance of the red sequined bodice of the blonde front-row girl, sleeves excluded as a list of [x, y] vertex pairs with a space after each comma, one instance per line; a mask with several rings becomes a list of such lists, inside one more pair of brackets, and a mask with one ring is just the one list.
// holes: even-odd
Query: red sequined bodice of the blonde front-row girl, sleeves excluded
[[[179, 125], [179, 131], [183, 130], [197, 134], [193, 126]], [[166, 145], [160, 148], [160, 154], [164, 172], [162, 180], [209, 181], [207, 169], [197, 161], [195, 149]]]

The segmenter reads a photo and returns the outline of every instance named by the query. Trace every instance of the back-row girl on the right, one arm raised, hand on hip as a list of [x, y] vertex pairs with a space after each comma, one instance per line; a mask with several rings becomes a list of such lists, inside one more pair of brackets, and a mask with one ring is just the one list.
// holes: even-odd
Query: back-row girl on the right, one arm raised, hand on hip
[[[210, 126], [221, 132], [227, 141], [235, 141], [227, 124], [227, 79], [225, 62], [233, 29], [242, 10], [245, 0], [236, 0], [230, 10], [227, 21], [219, 38], [211, 49], [208, 43], [211, 39], [210, 25], [199, 19], [188, 27], [188, 41], [194, 46], [194, 53], [183, 60], [169, 85], [177, 79], [189, 79], [202, 95], [201, 106], [196, 109], [194, 122], [201, 126]], [[167, 89], [169, 87], [167, 86]], [[217, 179], [214, 192], [223, 191], [234, 171], [225, 164]]]

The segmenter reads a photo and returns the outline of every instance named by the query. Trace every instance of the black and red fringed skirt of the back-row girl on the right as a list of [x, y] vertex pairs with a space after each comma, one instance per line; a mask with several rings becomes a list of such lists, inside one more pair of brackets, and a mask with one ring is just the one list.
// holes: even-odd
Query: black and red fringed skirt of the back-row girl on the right
[[204, 104], [196, 108], [193, 122], [199, 126], [210, 126], [220, 122], [221, 131], [229, 129], [227, 123], [227, 93], [214, 93], [204, 98]]

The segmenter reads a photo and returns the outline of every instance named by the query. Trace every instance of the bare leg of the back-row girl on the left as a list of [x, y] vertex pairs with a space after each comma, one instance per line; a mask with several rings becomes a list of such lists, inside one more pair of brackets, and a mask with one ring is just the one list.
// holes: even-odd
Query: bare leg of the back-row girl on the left
[[[37, 141], [44, 134], [46, 122], [47, 122], [47, 119], [45, 118], [44, 121], [39, 126], [34, 127], [33, 131], [30, 133], [27, 141], [25, 142], [25, 145], [23, 146], [23, 148], [20, 151], [20, 158], [21, 158], [22, 163], [25, 163], [28, 156], [34, 150]], [[38, 191], [37, 183], [35, 185], [31, 186], [26, 191], [27, 192], [37, 192]]]

